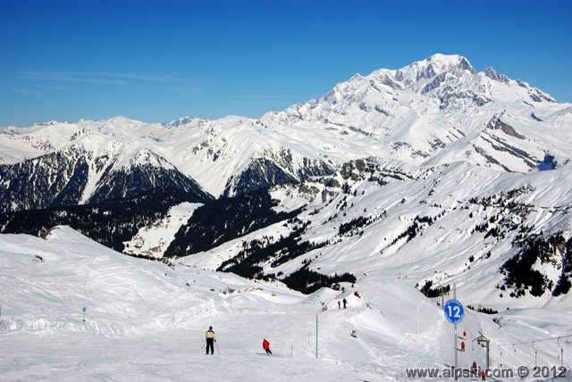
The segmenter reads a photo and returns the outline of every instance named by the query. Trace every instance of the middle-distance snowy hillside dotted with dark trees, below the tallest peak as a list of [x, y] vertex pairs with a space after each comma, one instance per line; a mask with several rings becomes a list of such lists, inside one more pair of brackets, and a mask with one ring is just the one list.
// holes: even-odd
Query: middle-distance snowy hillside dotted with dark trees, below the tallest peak
[[466, 303], [496, 311], [557, 307], [559, 285], [572, 277], [569, 174], [570, 162], [526, 174], [467, 162], [425, 170], [351, 162], [336, 177], [273, 188], [276, 209], [302, 207], [296, 219], [175, 254], [193, 266], [244, 275], [259, 268], [279, 279], [307, 269], [375, 271], [419, 289], [457, 283]]

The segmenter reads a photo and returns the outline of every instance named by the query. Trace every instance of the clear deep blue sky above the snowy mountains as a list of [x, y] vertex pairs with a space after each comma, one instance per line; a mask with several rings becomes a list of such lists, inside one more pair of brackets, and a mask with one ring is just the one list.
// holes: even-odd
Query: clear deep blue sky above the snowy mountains
[[258, 118], [462, 54], [572, 102], [572, 1], [0, 0], [0, 126]]

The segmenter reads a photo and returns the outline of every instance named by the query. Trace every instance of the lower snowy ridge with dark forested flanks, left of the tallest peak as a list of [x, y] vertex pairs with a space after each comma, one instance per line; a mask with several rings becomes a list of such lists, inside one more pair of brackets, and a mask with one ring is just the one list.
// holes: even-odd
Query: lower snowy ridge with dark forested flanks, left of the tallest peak
[[[7, 212], [94, 203], [156, 187], [185, 190], [202, 201], [209, 192], [246, 193], [333, 171], [303, 155], [293, 159], [280, 137], [269, 144], [265, 128], [253, 120], [182, 121], [118, 117], [3, 129], [0, 205]], [[58, 137], [51, 140], [46, 130]]]

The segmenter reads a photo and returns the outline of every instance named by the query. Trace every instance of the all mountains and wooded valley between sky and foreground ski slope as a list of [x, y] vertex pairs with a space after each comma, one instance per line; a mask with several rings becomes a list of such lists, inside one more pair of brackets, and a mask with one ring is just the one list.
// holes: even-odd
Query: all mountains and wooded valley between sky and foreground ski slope
[[[570, 153], [572, 104], [435, 54], [259, 120], [1, 129], [0, 228], [69, 224], [125, 253], [290, 281], [375, 259], [425, 291], [463, 279], [492, 307], [541, 304], [572, 275]], [[107, 229], [80, 218], [96, 215]]]

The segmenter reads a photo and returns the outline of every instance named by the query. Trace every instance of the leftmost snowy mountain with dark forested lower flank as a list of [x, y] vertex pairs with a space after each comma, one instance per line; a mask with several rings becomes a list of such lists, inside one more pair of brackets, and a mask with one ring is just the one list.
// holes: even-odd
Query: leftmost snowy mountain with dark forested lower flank
[[[4, 158], [12, 162], [0, 166], [4, 211], [97, 203], [154, 188], [184, 190], [197, 201], [212, 197], [149, 149], [148, 138], [126, 119], [5, 129], [2, 137], [5, 147], [11, 147], [3, 150]], [[21, 162], [13, 162], [12, 147], [22, 148]], [[38, 147], [45, 153], [34, 152]]]

